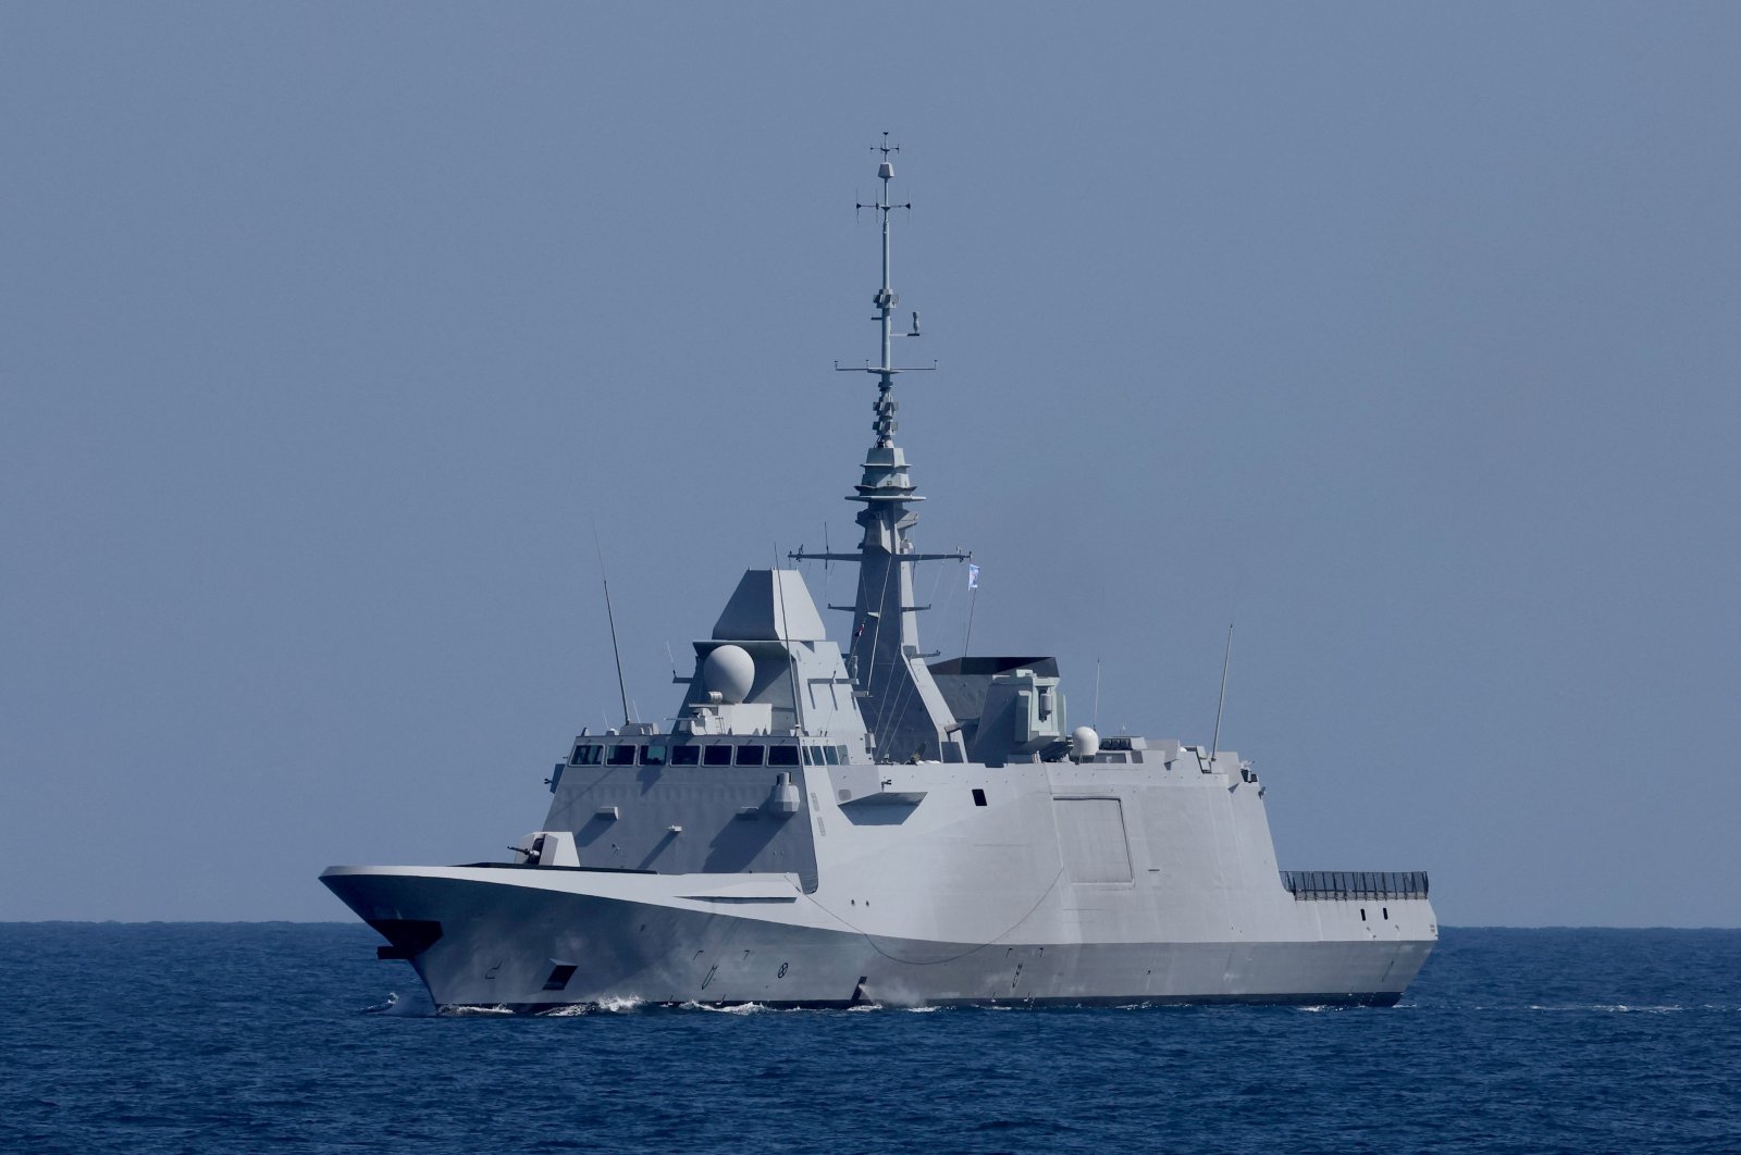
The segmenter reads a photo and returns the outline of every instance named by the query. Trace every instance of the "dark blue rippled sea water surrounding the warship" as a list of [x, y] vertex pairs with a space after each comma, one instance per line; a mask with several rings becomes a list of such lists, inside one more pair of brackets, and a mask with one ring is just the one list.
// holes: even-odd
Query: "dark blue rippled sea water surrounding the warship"
[[1741, 1152], [1741, 931], [1447, 929], [1389, 1009], [547, 1018], [376, 941], [0, 924], [0, 1152]]

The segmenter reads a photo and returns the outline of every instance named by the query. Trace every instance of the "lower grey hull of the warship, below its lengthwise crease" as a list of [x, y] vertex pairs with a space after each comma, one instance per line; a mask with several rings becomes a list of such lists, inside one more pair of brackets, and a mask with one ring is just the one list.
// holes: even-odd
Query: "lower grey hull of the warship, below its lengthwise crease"
[[1431, 938], [949, 941], [850, 925], [794, 877], [514, 866], [322, 875], [444, 1007], [971, 1004], [1391, 1005]]

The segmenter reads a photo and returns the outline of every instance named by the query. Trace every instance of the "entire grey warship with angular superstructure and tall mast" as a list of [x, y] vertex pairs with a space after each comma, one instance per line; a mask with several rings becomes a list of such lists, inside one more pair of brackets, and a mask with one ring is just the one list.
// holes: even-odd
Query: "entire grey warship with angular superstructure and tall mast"
[[1426, 873], [1278, 870], [1250, 762], [1071, 729], [1053, 658], [928, 664], [914, 564], [966, 555], [911, 537], [881, 151], [864, 537], [789, 555], [857, 565], [844, 649], [797, 569], [750, 569], [676, 717], [576, 736], [514, 861], [320, 880], [442, 1007], [1395, 1004]]

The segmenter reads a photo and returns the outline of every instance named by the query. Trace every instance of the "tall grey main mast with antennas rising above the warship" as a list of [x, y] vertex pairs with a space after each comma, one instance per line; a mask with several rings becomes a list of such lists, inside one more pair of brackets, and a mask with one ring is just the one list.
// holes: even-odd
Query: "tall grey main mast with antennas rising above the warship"
[[[864, 711], [865, 727], [876, 738], [876, 755], [883, 762], [909, 758], [959, 760], [956, 718], [944, 703], [931, 671], [919, 652], [919, 605], [912, 600], [912, 564], [933, 560], [966, 560], [965, 553], [914, 553], [907, 531], [919, 515], [907, 506], [924, 501], [907, 475], [907, 454], [895, 444], [900, 423], [895, 414], [895, 376], [914, 372], [895, 367], [895, 306], [900, 297], [893, 287], [890, 247], [890, 214], [895, 209], [912, 209], [890, 198], [890, 181], [895, 179], [893, 153], [900, 148], [888, 143], [876, 146], [883, 153], [877, 179], [883, 183], [874, 204], [860, 204], [877, 214], [883, 228], [883, 284], [870, 297], [876, 304], [879, 360], [876, 365], [843, 367], [839, 372], [869, 372], [877, 377], [877, 397], [872, 404], [876, 421], [870, 424], [876, 442], [865, 451], [864, 475], [853, 487], [858, 492], [848, 501], [864, 504], [853, 518], [864, 527], [857, 553], [794, 553], [794, 558], [827, 558], [858, 564], [858, 598], [853, 604], [853, 635], [848, 651], [848, 668]], [[912, 315], [912, 329], [905, 337], [919, 336], [919, 315]], [[843, 607], [844, 609], [844, 607]]]

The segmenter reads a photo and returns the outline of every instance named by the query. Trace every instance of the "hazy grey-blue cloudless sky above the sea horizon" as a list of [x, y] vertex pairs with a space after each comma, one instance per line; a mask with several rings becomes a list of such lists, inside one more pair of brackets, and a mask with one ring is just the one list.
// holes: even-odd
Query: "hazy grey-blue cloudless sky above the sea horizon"
[[594, 529], [669, 715], [853, 539], [888, 129], [977, 652], [1207, 741], [1233, 612], [1283, 866], [1741, 925], [1736, 77], [1734, 3], [0, 3], [0, 918], [501, 858]]

